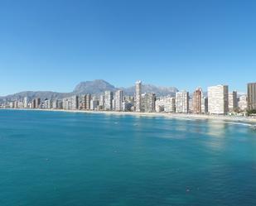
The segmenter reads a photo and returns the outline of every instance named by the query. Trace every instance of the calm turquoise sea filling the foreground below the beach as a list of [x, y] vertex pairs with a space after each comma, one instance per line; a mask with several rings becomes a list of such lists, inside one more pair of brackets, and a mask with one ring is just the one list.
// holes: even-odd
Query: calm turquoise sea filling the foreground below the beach
[[0, 110], [1, 206], [256, 205], [243, 125]]

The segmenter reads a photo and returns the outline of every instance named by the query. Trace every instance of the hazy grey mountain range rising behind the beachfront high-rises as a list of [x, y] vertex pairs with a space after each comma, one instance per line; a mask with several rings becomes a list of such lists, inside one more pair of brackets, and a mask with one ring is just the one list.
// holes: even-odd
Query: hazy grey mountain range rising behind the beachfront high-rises
[[[51, 92], [51, 91], [25, 91], [21, 93], [14, 93], [11, 95], [7, 95], [5, 97], [0, 97], [0, 100], [18, 100], [22, 98], [68, 98], [75, 94], [85, 94], [85, 93], [92, 93], [95, 95], [99, 95], [104, 93], [106, 90], [116, 91], [118, 89], [123, 89], [123, 93], [125, 95], [133, 95], [135, 93], [135, 86], [131, 86], [128, 88], [116, 88], [114, 85], [109, 84], [108, 82], [104, 81], [103, 79], [96, 79], [94, 81], [85, 81], [80, 82], [75, 86], [75, 89], [70, 93], [58, 93], [58, 92]], [[142, 84], [142, 93], [156, 93], [157, 96], [165, 96], [165, 95], [174, 95], [178, 91], [175, 87], [158, 87], [152, 84]]]

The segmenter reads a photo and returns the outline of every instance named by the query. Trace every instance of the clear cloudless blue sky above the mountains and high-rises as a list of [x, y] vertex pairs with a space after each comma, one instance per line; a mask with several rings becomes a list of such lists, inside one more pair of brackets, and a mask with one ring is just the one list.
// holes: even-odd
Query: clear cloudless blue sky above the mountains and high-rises
[[0, 0], [0, 96], [80, 81], [256, 82], [256, 1]]

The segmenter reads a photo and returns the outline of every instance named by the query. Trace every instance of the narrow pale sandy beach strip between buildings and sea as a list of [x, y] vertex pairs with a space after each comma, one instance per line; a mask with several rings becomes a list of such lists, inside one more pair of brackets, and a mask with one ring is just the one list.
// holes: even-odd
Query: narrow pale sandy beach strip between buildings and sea
[[42, 108], [1, 108], [2, 110], [24, 110], [24, 111], [46, 111], [60, 113], [99, 113], [111, 115], [132, 115], [138, 117], [168, 117], [183, 120], [213, 120], [214, 122], [228, 122], [234, 124], [246, 124], [256, 126], [256, 118], [237, 117], [237, 116], [219, 116], [205, 114], [186, 114], [186, 113], [137, 113], [137, 112], [117, 112], [117, 111], [90, 111], [90, 110], [64, 110], [64, 109], [42, 109]]

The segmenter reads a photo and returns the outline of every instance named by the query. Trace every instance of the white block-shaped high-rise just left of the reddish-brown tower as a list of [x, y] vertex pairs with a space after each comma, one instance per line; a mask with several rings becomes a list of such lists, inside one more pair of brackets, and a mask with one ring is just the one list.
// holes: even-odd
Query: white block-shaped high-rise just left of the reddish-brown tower
[[176, 93], [175, 98], [176, 113], [188, 113], [189, 109], [189, 93], [181, 91]]

